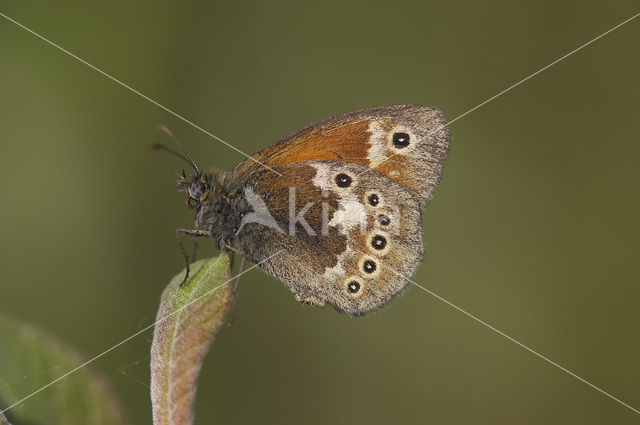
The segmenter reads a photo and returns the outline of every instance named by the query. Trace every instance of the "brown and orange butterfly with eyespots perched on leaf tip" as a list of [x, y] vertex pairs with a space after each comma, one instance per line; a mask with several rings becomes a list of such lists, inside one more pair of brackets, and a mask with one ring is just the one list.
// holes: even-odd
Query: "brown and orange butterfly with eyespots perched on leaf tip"
[[241, 253], [298, 301], [366, 314], [422, 261], [422, 210], [449, 140], [437, 109], [392, 105], [311, 124], [228, 172], [200, 171], [183, 148], [195, 173], [183, 171], [178, 189], [196, 228], [177, 235]]

